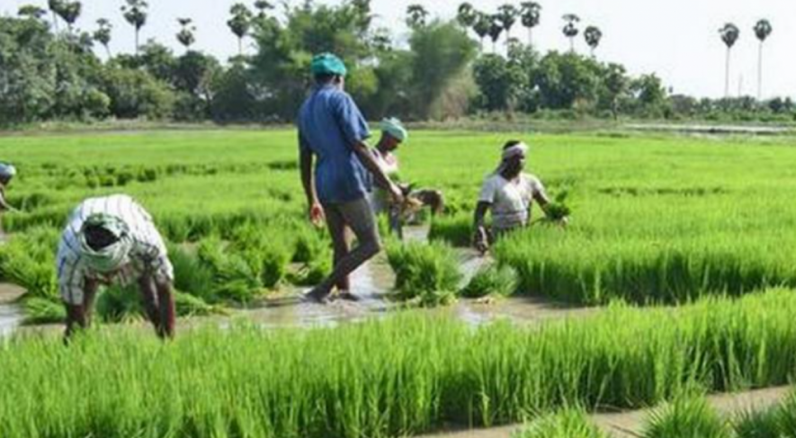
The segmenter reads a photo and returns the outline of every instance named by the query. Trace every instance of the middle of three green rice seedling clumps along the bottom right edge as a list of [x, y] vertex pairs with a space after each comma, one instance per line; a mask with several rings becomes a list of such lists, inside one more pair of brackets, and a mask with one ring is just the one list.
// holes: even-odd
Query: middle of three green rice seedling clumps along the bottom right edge
[[731, 438], [727, 422], [705, 398], [681, 396], [648, 418], [644, 438]]

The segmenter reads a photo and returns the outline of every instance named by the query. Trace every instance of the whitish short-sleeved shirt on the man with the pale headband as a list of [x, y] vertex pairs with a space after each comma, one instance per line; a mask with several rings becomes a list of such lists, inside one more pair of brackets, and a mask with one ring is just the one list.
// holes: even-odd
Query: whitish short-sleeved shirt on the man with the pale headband
[[545, 195], [544, 186], [532, 174], [520, 174], [513, 181], [491, 174], [481, 187], [478, 201], [492, 205], [492, 227], [506, 230], [528, 224], [533, 198], [539, 194]]

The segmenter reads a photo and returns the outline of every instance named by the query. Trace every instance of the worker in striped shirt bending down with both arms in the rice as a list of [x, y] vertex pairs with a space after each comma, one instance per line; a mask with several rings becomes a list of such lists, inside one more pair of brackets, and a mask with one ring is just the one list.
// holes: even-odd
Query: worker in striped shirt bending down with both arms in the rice
[[100, 285], [114, 282], [137, 282], [157, 335], [174, 336], [174, 269], [152, 218], [129, 196], [80, 203], [61, 235], [56, 266], [67, 307], [67, 339], [89, 326]]

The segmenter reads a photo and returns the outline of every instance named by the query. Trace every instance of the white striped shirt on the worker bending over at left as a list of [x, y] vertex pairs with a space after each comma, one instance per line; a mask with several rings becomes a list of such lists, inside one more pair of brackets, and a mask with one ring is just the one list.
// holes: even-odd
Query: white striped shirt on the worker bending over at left
[[[85, 219], [94, 213], [115, 216], [130, 228], [133, 246], [128, 261], [113, 273], [95, 272], [82, 255], [80, 229]], [[157, 282], [174, 280], [174, 268], [152, 217], [130, 196], [121, 194], [87, 199], [72, 211], [58, 244], [56, 266], [61, 298], [73, 305], [83, 304], [86, 280], [102, 284], [115, 282], [122, 286], [137, 281], [144, 274], [154, 276]]]

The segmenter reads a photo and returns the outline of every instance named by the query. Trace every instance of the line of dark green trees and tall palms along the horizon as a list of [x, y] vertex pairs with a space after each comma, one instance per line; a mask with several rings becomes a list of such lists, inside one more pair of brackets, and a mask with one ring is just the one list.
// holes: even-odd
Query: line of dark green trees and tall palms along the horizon
[[[311, 87], [309, 61], [324, 51], [344, 58], [351, 70], [347, 90], [371, 119], [523, 112], [784, 120], [794, 112], [790, 99], [763, 103], [750, 97], [670, 95], [656, 75], [633, 77], [622, 65], [596, 58], [604, 34], [595, 25], [583, 31], [590, 53], [577, 53], [581, 20], [573, 13], [562, 17], [568, 52], [542, 53], [532, 39], [542, 17], [541, 4], [535, 2], [504, 4], [494, 13], [463, 3], [452, 21], [431, 17], [424, 6], [412, 4], [406, 11], [407, 43], [401, 44], [393, 32], [374, 25], [370, 0], [335, 5], [306, 0], [279, 8], [265, 0], [239, 3], [232, 5], [227, 20], [238, 53], [226, 62], [195, 49], [196, 26], [190, 17], [175, 18], [174, 38], [183, 53], [175, 54], [157, 40], [141, 43], [148, 21], [143, 0], [124, 0], [120, 7], [135, 34], [133, 53], [113, 53], [118, 30], [108, 19], [98, 20], [94, 31], [78, 29], [82, 12], [79, 1], [49, 0], [47, 10], [26, 5], [16, 17], [0, 17], [0, 123], [292, 121]], [[527, 30], [523, 40], [512, 33], [517, 25]], [[761, 77], [762, 42], [770, 33], [769, 22], [758, 22]], [[725, 26], [720, 35], [728, 47], [729, 71], [729, 49], [738, 40], [738, 29]], [[491, 51], [484, 47], [487, 38]]]

